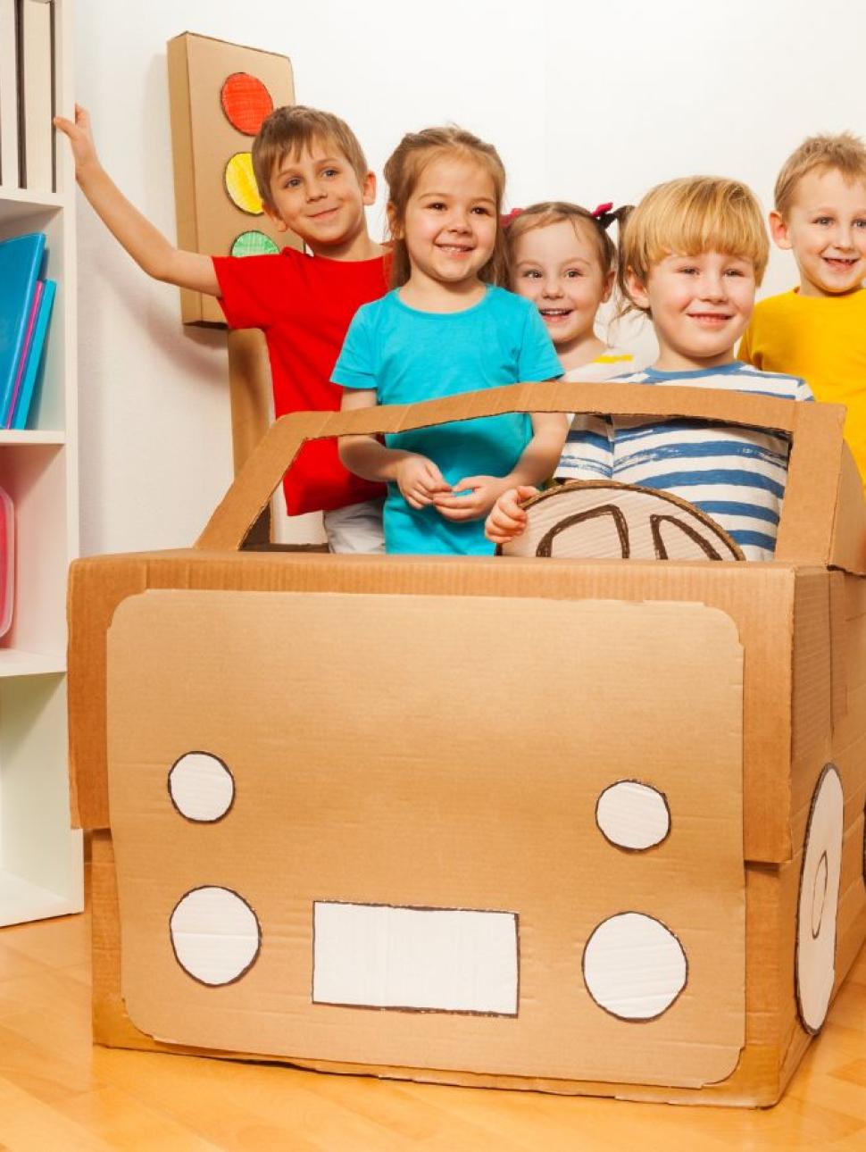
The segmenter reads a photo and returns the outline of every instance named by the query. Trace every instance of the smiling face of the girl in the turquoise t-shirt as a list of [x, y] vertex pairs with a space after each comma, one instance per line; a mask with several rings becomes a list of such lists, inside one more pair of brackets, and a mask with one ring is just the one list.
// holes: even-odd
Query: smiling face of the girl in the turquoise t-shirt
[[409, 295], [465, 295], [480, 287], [499, 227], [489, 172], [471, 158], [442, 156], [421, 172], [394, 235], [405, 240]]

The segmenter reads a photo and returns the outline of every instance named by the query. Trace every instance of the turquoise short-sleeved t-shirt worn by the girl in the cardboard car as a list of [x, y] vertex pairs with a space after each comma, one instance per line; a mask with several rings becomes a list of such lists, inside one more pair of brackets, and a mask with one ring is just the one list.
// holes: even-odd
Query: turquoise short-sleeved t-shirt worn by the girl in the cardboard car
[[[380, 404], [409, 404], [461, 392], [562, 376], [538, 309], [503, 288], [462, 312], [420, 312], [400, 289], [364, 304], [343, 343], [332, 379], [375, 389]], [[466, 476], [507, 476], [532, 437], [524, 414], [457, 420], [387, 435], [389, 448], [427, 456], [449, 484]], [[387, 552], [489, 555], [484, 520], [453, 523], [435, 508], [410, 508], [396, 484], [385, 502]]]

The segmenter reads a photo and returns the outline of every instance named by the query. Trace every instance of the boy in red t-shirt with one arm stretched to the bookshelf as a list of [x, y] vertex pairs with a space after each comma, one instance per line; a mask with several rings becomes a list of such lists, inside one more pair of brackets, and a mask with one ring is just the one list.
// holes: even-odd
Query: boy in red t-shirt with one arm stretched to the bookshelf
[[[229, 327], [261, 328], [267, 340], [274, 414], [336, 411], [342, 389], [331, 373], [349, 321], [387, 288], [386, 252], [367, 234], [364, 207], [375, 198], [351, 129], [301, 105], [276, 108], [261, 124], [252, 162], [265, 212], [296, 233], [312, 256], [284, 248], [268, 256], [203, 256], [175, 248], [123, 196], [99, 162], [90, 116], [58, 116], [75, 175], [97, 214], [151, 276], [220, 300]], [[381, 552], [385, 490], [347, 471], [336, 442], [305, 445], [283, 480], [289, 515], [321, 509], [334, 552]]]

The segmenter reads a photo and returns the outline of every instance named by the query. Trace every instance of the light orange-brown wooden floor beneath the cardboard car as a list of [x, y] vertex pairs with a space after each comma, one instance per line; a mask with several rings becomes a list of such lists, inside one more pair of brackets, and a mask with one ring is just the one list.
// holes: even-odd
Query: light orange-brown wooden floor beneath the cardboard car
[[93, 1048], [89, 918], [0, 930], [0, 1150], [866, 1152], [866, 952], [784, 1100], [682, 1108]]

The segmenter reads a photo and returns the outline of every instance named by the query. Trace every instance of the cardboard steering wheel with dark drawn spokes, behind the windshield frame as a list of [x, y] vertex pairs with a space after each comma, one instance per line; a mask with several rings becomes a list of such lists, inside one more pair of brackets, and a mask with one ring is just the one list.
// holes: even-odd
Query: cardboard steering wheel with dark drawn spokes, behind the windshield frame
[[744, 560], [739, 545], [688, 500], [614, 480], [570, 480], [527, 500], [526, 531], [503, 556], [572, 560]]

